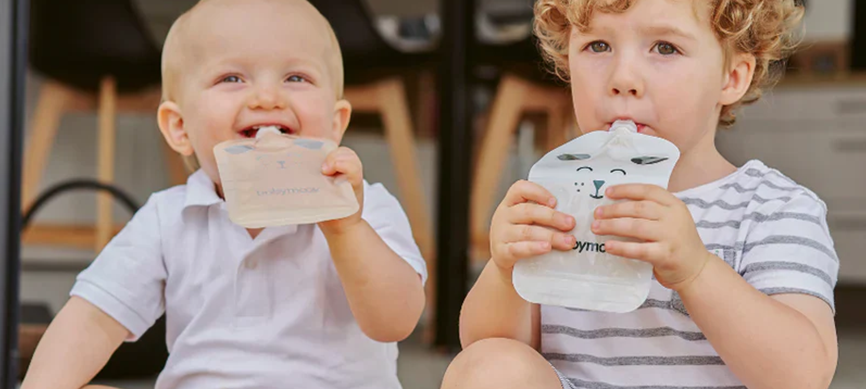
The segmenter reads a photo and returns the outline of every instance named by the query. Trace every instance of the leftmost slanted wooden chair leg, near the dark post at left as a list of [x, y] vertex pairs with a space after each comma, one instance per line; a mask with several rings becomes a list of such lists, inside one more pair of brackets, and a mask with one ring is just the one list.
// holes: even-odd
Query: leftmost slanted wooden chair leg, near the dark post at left
[[69, 105], [73, 92], [60, 83], [46, 80], [39, 90], [39, 100], [29, 129], [29, 140], [24, 152], [22, 174], [22, 210], [26, 211], [36, 199], [42, 174], [48, 165], [48, 155], [54, 146], [61, 117]]

